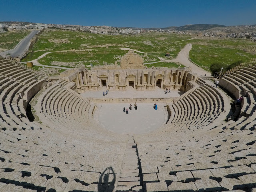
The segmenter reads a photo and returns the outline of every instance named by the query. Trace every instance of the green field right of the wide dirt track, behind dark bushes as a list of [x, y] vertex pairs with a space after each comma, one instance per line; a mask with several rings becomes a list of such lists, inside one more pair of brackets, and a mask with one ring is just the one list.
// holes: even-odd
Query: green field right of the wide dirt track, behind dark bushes
[[227, 66], [233, 62], [242, 60], [244, 63], [249, 63], [251, 58], [256, 58], [256, 55], [244, 52], [240, 49], [220, 48], [213, 46], [192, 45], [189, 56], [193, 62], [208, 70], [214, 62], [223, 63]]

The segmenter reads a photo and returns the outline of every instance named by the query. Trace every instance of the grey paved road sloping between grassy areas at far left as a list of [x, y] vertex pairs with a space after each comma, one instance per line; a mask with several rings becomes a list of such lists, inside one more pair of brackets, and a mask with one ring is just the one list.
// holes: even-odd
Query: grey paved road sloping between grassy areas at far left
[[22, 39], [14, 49], [8, 50], [5, 52], [1, 52], [0, 55], [6, 55], [10, 53], [9, 56], [17, 57], [19, 55], [23, 55], [27, 48], [30, 46], [30, 40], [38, 33], [39, 31], [32, 31], [28, 36]]

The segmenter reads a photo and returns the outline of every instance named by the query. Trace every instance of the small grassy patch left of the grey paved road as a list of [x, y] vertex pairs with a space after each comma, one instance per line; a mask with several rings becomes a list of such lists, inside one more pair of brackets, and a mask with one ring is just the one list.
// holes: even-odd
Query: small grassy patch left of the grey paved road
[[0, 48], [13, 49], [20, 40], [30, 34], [28, 30], [8, 31], [0, 33]]

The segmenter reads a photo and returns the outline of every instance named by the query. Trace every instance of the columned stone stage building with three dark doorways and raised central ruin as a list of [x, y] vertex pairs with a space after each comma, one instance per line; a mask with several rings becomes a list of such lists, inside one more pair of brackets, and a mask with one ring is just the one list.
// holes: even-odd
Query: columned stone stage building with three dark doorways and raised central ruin
[[[68, 72], [70, 73], [70, 72]], [[143, 58], [129, 51], [118, 65], [80, 68], [69, 81], [76, 82], [78, 92], [86, 90], [154, 90], [164, 88], [186, 91], [186, 82], [196, 80], [197, 75], [190, 68], [146, 68]]]

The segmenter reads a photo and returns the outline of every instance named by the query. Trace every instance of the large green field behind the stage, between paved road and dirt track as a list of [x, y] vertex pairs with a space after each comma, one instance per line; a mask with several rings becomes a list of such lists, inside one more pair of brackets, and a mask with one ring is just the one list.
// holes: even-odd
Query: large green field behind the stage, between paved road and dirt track
[[[144, 33], [138, 35], [101, 35], [88, 32], [48, 30], [39, 35], [38, 41], [23, 61], [30, 61], [38, 58], [45, 52], [50, 53], [39, 62], [51, 65], [51, 61], [60, 62], [80, 62], [85, 65], [114, 64], [127, 50], [120, 48], [132, 48], [148, 54], [138, 53], [144, 58], [144, 62], [159, 61], [158, 57], [163, 57], [166, 52], [170, 52], [175, 58], [180, 50], [185, 46], [186, 40], [190, 36], [167, 33]], [[67, 43], [56, 43], [53, 40], [68, 40]], [[108, 45], [108, 47], [106, 47]], [[56, 52], [72, 50], [69, 52]], [[85, 50], [85, 51], [76, 51]], [[88, 51], [90, 50], [90, 51]]]

